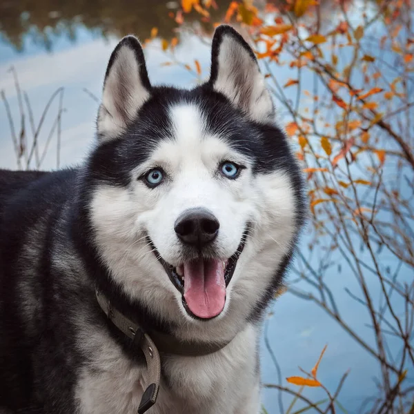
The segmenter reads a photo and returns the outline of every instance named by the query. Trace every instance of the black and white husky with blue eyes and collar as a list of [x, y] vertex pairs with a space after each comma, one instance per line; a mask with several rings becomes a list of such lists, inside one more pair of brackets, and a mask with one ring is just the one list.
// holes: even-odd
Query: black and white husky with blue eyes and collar
[[0, 172], [1, 413], [259, 412], [303, 184], [246, 41], [220, 26], [211, 60], [155, 87], [125, 37], [86, 162]]

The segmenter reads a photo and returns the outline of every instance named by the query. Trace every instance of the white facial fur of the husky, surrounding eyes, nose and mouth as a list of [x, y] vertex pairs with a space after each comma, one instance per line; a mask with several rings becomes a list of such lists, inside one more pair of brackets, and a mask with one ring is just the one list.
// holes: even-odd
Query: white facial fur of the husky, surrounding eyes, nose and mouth
[[[150, 159], [131, 174], [130, 188], [99, 186], [92, 201], [92, 221], [103, 259], [125, 292], [179, 326], [187, 339], [231, 338], [242, 326], [257, 298], [288, 252], [295, 224], [293, 188], [283, 172], [253, 175], [248, 159], [221, 137], [204, 130], [197, 106], [170, 110], [174, 139], [161, 141]], [[222, 160], [245, 164], [238, 179], [217, 174]], [[136, 177], [161, 166], [168, 179], [147, 188]], [[219, 220], [218, 253], [228, 259], [253, 224], [246, 247], [227, 290], [224, 312], [205, 322], [190, 318], [181, 294], [172, 285], [145, 239], [148, 232], [160, 255], [176, 266], [181, 244], [175, 220], [188, 208], [210, 210]]]

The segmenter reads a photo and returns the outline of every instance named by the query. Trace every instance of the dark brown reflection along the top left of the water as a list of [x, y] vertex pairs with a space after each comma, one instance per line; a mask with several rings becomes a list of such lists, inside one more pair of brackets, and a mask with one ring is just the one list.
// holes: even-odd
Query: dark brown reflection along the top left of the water
[[[218, 21], [229, 3], [220, 1], [217, 9], [211, 8], [211, 21]], [[178, 7], [174, 0], [0, 0], [0, 32], [18, 50], [23, 48], [25, 36], [48, 50], [56, 37], [75, 41], [79, 26], [103, 37], [134, 33], [140, 39], [149, 37], [151, 28], [157, 27], [160, 37], [171, 39], [178, 24], [170, 12], [175, 14]], [[199, 19], [196, 13], [186, 15], [186, 21], [195, 19]]]

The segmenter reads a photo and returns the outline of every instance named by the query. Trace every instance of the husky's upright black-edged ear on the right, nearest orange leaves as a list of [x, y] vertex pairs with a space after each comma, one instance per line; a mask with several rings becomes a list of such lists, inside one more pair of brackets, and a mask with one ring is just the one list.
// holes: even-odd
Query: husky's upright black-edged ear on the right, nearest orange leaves
[[215, 30], [208, 83], [250, 119], [259, 122], [273, 120], [273, 102], [255, 54], [230, 26], [219, 26]]

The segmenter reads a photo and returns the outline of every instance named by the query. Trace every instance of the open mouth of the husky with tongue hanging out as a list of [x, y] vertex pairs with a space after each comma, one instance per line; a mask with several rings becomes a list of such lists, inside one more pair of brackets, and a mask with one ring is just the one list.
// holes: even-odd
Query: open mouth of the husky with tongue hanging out
[[246, 238], [247, 232], [243, 234], [235, 254], [228, 259], [207, 259], [200, 256], [176, 267], [162, 259], [152, 242], [149, 242], [170, 281], [181, 293], [188, 315], [206, 320], [218, 316], [224, 309], [226, 287], [235, 273]]

